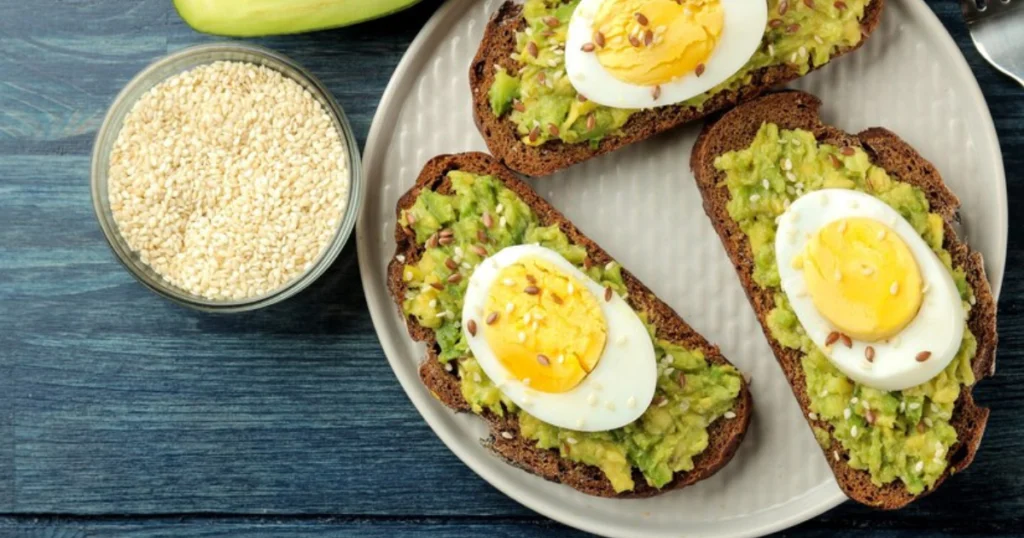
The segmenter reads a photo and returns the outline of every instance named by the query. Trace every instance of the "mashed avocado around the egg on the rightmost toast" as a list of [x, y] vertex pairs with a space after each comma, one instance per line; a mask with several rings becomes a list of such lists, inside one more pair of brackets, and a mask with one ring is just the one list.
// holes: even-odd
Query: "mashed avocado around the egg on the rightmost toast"
[[[792, 164], [792, 171], [783, 171], [782, 163], [786, 169]], [[952, 266], [942, 248], [942, 217], [930, 212], [924, 192], [872, 165], [862, 150], [844, 152], [819, 144], [808, 131], [765, 124], [750, 148], [722, 155], [715, 166], [726, 174], [729, 216], [750, 240], [754, 280], [774, 292], [775, 308], [768, 315], [772, 337], [803, 354], [810, 411], [831, 426], [830, 436], [815, 428], [818, 443], [827, 449], [829, 438], [837, 439], [849, 452], [850, 466], [867, 470], [876, 485], [898, 479], [911, 494], [931, 488], [945, 470], [947, 452], [956, 442], [949, 420], [961, 386], [975, 381], [974, 335], [965, 329], [956, 357], [924, 384], [888, 392], [853, 382], [811, 341], [791, 308], [775, 262], [775, 230], [776, 217], [805, 193], [819, 189], [867, 193], [897, 210], [921, 234], [949, 270], [970, 312], [974, 297], [964, 271]]]

